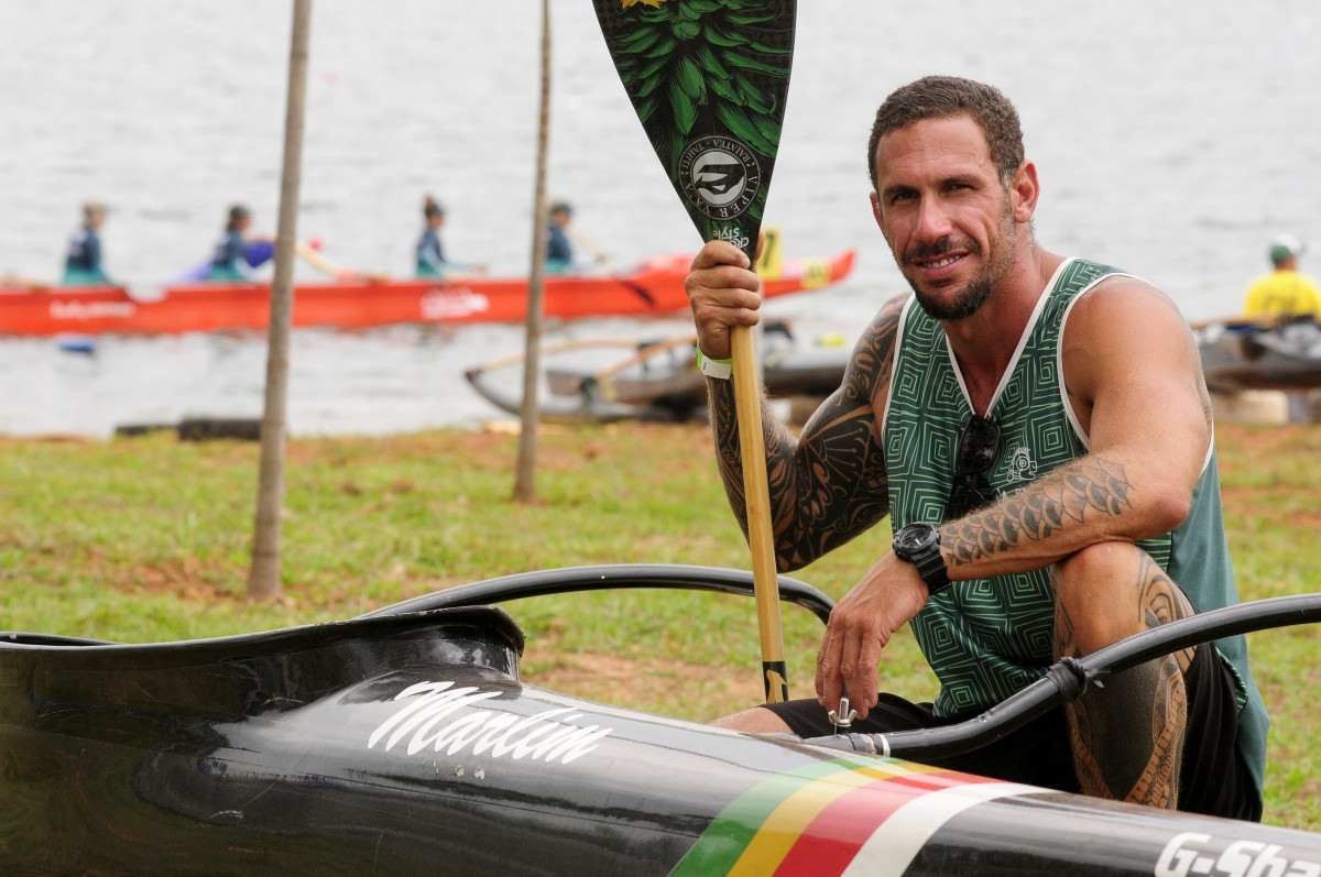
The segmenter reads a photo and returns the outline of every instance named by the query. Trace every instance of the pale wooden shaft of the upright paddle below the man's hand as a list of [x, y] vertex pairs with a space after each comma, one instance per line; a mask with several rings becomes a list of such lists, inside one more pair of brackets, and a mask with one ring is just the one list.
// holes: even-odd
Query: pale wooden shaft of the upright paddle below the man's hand
[[770, 487], [766, 483], [766, 440], [761, 425], [761, 386], [757, 382], [757, 351], [749, 326], [731, 333], [734, 408], [738, 416], [738, 448], [742, 456], [744, 497], [748, 507], [748, 547], [757, 596], [757, 627], [761, 633], [761, 668], [766, 703], [789, 700], [785, 670], [785, 638], [779, 625], [779, 582], [775, 575], [775, 543], [770, 528]]

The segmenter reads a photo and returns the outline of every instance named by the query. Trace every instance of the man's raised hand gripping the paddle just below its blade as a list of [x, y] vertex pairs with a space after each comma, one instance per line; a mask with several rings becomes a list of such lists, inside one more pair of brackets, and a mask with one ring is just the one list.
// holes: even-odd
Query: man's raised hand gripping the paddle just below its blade
[[712, 359], [729, 357], [729, 330], [754, 326], [761, 308], [761, 277], [744, 251], [724, 240], [712, 240], [683, 283], [697, 328], [697, 346]]

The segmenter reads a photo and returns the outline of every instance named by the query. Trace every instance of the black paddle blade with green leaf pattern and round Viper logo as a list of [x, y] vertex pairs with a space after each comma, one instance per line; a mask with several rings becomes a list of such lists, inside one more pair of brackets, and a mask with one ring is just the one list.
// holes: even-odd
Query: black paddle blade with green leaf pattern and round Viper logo
[[703, 240], [749, 258], [779, 148], [795, 0], [593, 0], [647, 139]]

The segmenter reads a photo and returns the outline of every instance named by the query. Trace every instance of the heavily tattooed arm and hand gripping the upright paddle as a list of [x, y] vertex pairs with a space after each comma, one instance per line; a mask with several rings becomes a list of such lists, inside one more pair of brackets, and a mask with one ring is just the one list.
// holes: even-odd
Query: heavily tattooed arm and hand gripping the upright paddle
[[[709, 243], [687, 281], [699, 345], [728, 357], [728, 330], [756, 322], [760, 281], [734, 247]], [[880, 405], [893, 362], [902, 298], [885, 305], [853, 350], [844, 383], [795, 441], [762, 407], [775, 565], [803, 567], [880, 520], [889, 510]], [[716, 458], [734, 515], [748, 532], [732, 380], [707, 379]]]

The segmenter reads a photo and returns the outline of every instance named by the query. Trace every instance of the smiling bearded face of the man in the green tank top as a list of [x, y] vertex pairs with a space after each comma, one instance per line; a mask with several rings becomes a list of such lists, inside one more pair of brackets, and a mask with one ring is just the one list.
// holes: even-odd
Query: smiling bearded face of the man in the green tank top
[[881, 137], [876, 161], [872, 210], [918, 304], [938, 320], [972, 316], [1008, 272], [1018, 231], [980, 125], [915, 122]]

